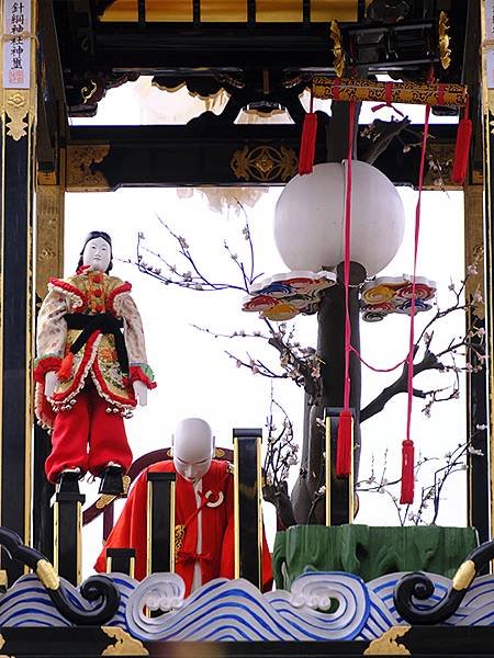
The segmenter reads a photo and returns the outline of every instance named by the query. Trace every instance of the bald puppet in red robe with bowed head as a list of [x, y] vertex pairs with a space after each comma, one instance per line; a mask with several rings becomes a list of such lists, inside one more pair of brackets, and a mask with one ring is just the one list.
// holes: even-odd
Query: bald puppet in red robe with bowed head
[[[234, 578], [234, 489], [232, 466], [213, 460], [214, 438], [199, 418], [182, 420], [173, 438], [173, 461], [147, 468], [136, 480], [124, 510], [101, 552], [96, 569], [105, 570], [106, 548], [136, 552], [135, 577], [146, 577], [146, 504], [148, 472], [176, 472], [176, 527], [182, 526], [182, 545], [176, 572], [186, 594], [213, 578]], [[271, 557], [263, 538], [262, 580], [272, 582]]]

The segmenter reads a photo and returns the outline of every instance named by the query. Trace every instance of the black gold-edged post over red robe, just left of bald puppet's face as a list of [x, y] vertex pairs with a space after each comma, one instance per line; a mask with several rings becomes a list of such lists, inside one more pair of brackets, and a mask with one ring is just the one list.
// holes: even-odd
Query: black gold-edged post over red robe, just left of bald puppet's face
[[147, 474], [147, 575], [175, 571], [175, 473]]

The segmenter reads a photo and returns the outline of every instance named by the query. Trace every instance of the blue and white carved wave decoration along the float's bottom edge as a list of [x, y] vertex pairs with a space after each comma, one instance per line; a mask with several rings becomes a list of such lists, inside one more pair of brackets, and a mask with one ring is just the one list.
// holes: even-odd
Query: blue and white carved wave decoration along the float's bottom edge
[[[307, 571], [290, 591], [262, 594], [248, 581], [216, 579], [184, 598], [184, 586], [173, 574], [154, 574], [142, 582], [122, 574], [109, 578], [121, 602], [106, 626], [116, 626], [141, 640], [373, 640], [403, 619], [393, 592], [403, 572], [377, 578], [367, 585], [357, 576], [338, 571]], [[434, 591], [420, 601], [433, 610], [452, 581], [428, 574]], [[91, 610], [78, 588], [64, 581], [71, 603]], [[149, 616], [148, 610], [161, 611]], [[458, 610], [442, 622], [448, 626], [494, 626], [494, 577], [473, 580]], [[0, 598], [0, 626], [67, 627], [33, 574], [20, 578]]]

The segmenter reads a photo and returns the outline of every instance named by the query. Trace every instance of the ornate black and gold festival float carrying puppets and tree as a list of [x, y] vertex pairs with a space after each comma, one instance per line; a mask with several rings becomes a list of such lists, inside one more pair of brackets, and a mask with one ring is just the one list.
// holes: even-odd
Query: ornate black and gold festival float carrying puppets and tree
[[[4, 0], [1, 12], [4, 654], [493, 655], [492, 0]], [[227, 100], [220, 114], [204, 111], [184, 125], [70, 125], [97, 115], [109, 89], [143, 75], [168, 92], [186, 87]], [[315, 111], [318, 100], [332, 101], [330, 116]], [[367, 101], [397, 114], [401, 103], [420, 105], [424, 121], [375, 118], [369, 138], [358, 127]], [[236, 123], [245, 109], [259, 121]], [[291, 122], [262, 123], [277, 112]], [[458, 121], [433, 124], [433, 114]], [[233, 428], [234, 450], [225, 451], [204, 426], [201, 434], [186, 423], [190, 433], [173, 454], [164, 446], [130, 464], [123, 417], [154, 379], [130, 284], [110, 273], [110, 236], [90, 234], [77, 272], [63, 272], [66, 193], [239, 184], [284, 186], [273, 224], [287, 266], [252, 284], [243, 310], [272, 322], [316, 315], [322, 364], [319, 388], [306, 389], [300, 476], [290, 496], [274, 491], [272, 560], [261, 517], [262, 431]], [[388, 275], [403, 238], [396, 185], [417, 191], [413, 271]], [[368, 412], [360, 322], [396, 314], [409, 332], [400, 364], [408, 399], [400, 504], [407, 506], [415, 318], [431, 311], [436, 295], [434, 272], [417, 269], [420, 195], [430, 189], [463, 190], [465, 262], [486, 273], [475, 269], [475, 287], [465, 288], [469, 299], [483, 293], [485, 314], [469, 305], [469, 326], [486, 336], [485, 367], [468, 375], [469, 526], [367, 526], [355, 522]], [[110, 249], [109, 260], [91, 247]], [[63, 321], [55, 327], [54, 318]], [[123, 446], [104, 452], [103, 438], [104, 457], [92, 466], [72, 452], [59, 456], [80, 429], [60, 419], [83, 405], [91, 418], [105, 415], [109, 435], [119, 426]], [[211, 468], [216, 484], [192, 489]], [[82, 510], [86, 469], [101, 477], [101, 496]], [[189, 478], [191, 514], [180, 508], [180, 478]], [[114, 502], [134, 504], [138, 490], [137, 538], [125, 541]], [[202, 519], [220, 511], [228, 551], [201, 580], [214, 561]], [[82, 524], [100, 515], [104, 572], [82, 581]]]

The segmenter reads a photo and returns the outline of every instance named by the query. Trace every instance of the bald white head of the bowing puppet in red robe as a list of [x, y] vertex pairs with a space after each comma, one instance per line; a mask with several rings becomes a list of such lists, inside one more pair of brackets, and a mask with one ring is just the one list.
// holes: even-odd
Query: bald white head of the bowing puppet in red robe
[[201, 479], [210, 469], [214, 436], [201, 418], [186, 418], [175, 429], [173, 464], [177, 473], [190, 483]]

